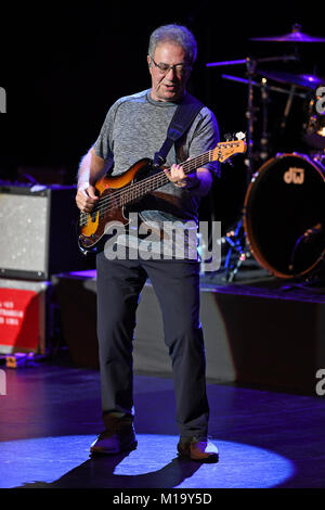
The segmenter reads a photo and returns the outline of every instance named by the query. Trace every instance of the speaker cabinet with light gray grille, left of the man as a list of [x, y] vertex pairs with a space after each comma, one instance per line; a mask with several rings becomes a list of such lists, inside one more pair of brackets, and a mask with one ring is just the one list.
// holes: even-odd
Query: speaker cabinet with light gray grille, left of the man
[[0, 186], [0, 276], [48, 280], [84, 268], [76, 188]]

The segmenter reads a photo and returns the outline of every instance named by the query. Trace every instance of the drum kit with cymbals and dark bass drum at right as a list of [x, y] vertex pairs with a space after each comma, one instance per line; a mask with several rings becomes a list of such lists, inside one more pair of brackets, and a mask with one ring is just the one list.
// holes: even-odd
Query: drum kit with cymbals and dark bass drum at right
[[[222, 75], [223, 79], [247, 88], [246, 190], [240, 219], [223, 238], [227, 246], [224, 263], [226, 280], [233, 281], [243, 262], [252, 255], [262, 268], [276, 278], [308, 282], [318, 278], [324, 269], [325, 77], [264, 67], [270, 62], [283, 64], [291, 61], [296, 65], [295, 62], [300, 61], [299, 44], [324, 43], [325, 38], [304, 34], [296, 24], [289, 34], [250, 40], [289, 42], [294, 43], [295, 51], [288, 55], [207, 64], [208, 67], [246, 66], [245, 78]], [[262, 122], [260, 151], [253, 152], [257, 119], [253, 93], [257, 88], [261, 91], [262, 107], [259, 111]], [[299, 126], [302, 152], [270, 154], [270, 91], [286, 94], [282, 95], [286, 98], [286, 104], [280, 125], [274, 128], [282, 133], [285, 133], [295, 98], [302, 98], [303, 112]]]

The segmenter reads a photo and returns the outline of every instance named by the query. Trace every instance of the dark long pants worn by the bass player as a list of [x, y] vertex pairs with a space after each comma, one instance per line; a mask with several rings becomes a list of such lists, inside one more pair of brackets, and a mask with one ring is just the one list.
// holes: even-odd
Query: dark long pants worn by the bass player
[[199, 322], [198, 263], [109, 260], [96, 256], [98, 336], [103, 413], [133, 416], [132, 341], [139, 296], [151, 279], [162, 311], [181, 436], [206, 436], [205, 349]]

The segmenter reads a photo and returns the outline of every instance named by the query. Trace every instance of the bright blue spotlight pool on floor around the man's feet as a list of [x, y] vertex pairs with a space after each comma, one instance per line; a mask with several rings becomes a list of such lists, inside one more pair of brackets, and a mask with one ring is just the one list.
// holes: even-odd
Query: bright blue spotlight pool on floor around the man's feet
[[0, 487], [266, 488], [291, 477], [289, 459], [257, 446], [216, 441], [214, 464], [177, 458], [178, 436], [138, 434], [138, 448], [89, 458], [94, 436], [37, 437], [0, 443]]

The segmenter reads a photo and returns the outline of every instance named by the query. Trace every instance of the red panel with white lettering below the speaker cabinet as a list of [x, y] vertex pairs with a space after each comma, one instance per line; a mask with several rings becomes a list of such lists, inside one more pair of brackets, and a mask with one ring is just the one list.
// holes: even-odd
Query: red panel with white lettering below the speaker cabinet
[[0, 288], [0, 346], [12, 346], [13, 352], [36, 352], [39, 314], [37, 292]]

